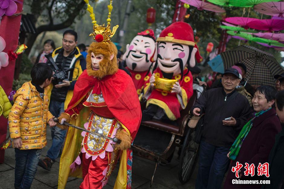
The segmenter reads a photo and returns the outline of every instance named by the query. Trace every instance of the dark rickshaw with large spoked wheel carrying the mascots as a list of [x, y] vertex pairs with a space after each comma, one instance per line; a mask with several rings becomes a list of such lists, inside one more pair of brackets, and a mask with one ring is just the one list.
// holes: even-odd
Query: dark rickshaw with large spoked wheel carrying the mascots
[[179, 147], [179, 181], [185, 184], [189, 181], [198, 159], [199, 144], [194, 141], [195, 128], [189, 128], [191, 119], [189, 110], [196, 100], [194, 90], [186, 108], [180, 112], [176, 120], [177, 126], [158, 120], [141, 122], [134, 139], [133, 153], [145, 159], [156, 162], [150, 187], [159, 163], [167, 163], [173, 157], [176, 147]]

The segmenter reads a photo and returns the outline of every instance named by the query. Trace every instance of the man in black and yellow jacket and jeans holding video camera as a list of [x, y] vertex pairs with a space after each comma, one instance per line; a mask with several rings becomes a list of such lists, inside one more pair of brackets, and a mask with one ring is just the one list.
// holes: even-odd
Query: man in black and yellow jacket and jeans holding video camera
[[[73, 89], [79, 75], [86, 69], [86, 60], [77, 45], [77, 33], [66, 30], [63, 33], [62, 47], [47, 55], [47, 64], [53, 69], [53, 80], [50, 95], [49, 111], [55, 116], [64, 112], [73, 96]], [[51, 128], [52, 146], [45, 159], [38, 165], [50, 171], [55, 159], [59, 156], [67, 130]]]

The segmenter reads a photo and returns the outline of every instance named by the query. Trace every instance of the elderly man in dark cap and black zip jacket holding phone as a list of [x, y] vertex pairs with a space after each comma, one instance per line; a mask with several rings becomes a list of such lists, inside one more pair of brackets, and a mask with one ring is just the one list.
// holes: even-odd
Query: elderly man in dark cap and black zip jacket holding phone
[[229, 162], [229, 148], [250, 116], [249, 102], [235, 90], [239, 83], [238, 71], [226, 69], [223, 88], [206, 91], [192, 107], [194, 116], [205, 113], [196, 189], [221, 187]]

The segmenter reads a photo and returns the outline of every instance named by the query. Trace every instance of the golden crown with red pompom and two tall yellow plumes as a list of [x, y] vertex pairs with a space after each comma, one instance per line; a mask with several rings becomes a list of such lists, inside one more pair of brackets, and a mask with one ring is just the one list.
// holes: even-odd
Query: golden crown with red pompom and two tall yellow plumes
[[110, 43], [111, 37], [114, 36], [118, 25], [114, 26], [111, 31], [111, 11], [112, 11], [112, 0], [110, 0], [110, 3], [108, 5], [108, 19], [107, 19], [107, 26], [105, 27], [105, 24], [98, 25], [97, 21], [95, 20], [95, 13], [93, 12], [93, 7], [89, 4], [89, 0], [84, 0], [86, 4], [88, 5], [87, 11], [90, 13], [90, 17], [92, 18], [93, 23], [93, 30], [94, 32], [90, 34], [89, 36], [92, 36], [93, 39], [97, 42], [104, 42], [104, 43]]

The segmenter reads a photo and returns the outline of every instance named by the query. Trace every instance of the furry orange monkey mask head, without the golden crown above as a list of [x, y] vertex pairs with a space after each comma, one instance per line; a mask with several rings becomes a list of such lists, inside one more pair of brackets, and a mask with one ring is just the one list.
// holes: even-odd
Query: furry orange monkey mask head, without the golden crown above
[[86, 57], [88, 75], [103, 78], [115, 74], [118, 70], [116, 55], [117, 48], [113, 43], [91, 43]]

